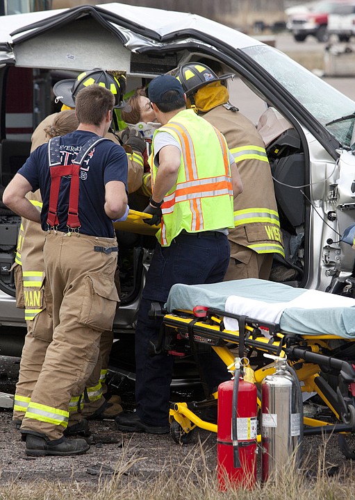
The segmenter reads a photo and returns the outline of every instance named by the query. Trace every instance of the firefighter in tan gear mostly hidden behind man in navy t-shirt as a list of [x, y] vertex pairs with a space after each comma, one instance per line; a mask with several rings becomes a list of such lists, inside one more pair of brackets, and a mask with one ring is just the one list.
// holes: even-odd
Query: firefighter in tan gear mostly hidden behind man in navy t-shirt
[[[73, 132], [78, 126], [74, 110], [53, 113], [45, 118], [32, 136], [31, 152], [57, 135]], [[33, 206], [42, 210], [40, 190], [26, 195]], [[49, 288], [44, 293], [45, 276], [43, 262], [44, 231], [37, 222], [22, 218], [15, 257], [15, 283], [17, 307], [24, 308], [27, 335], [16, 385], [13, 420], [20, 428], [22, 419], [31, 401], [31, 394], [40, 375], [47, 347], [53, 337], [53, 321]], [[33, 270], [35, 269], [35, 270]], [[44, 296], [47, 296], [45, 300]], [[81, 415], [76, 412], [79, 399], [71, 402], [68, 429], [78, 429], [85, 433], [87, 424], [79, 426]], [[86, 424], [86, 425], [85, 425]], [[70, 433], [70, 431], [69, 431]]]

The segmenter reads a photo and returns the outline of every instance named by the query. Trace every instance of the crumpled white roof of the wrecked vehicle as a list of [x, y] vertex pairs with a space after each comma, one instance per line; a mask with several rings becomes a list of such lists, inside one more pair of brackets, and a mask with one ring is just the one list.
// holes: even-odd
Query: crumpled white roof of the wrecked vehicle
[[[122, 3], [100, 6], [79, 6], [72, 9], [47, 10], [3, 17], [0, 23], [0, 62], [14, 59], [13, 49], [22, 42], [46, 32], [65, 28], [72, 22], [92, 19], [101, 29], [118, 38], [130, 51], [140, 52], [147, 47], [164, 47], [193, 38], [213, 47], [236, 50], [261, 44], [240, 33], [204, 17]], [[56, 57], [54, 57], [56, 59]], [[57, 61], [56, 61], [57, 63]], [[77, 69], [81, 69], [78, 67]]]

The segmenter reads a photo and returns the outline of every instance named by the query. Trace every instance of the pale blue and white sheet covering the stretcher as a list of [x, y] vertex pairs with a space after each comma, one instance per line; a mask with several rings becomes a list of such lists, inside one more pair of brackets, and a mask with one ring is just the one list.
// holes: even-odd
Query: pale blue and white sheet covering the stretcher
[[[170, 312], [195, 306], [230, 309], [258, 321], [279, 323], [285, 333], [355, 339], [355, 299], [272, 281], [250, 278], [210, 285], [177, 284], [170, 290], [166, 306]], [[225, 317], [228, 330], [238, 329], [229, 328], [228, 322]]]

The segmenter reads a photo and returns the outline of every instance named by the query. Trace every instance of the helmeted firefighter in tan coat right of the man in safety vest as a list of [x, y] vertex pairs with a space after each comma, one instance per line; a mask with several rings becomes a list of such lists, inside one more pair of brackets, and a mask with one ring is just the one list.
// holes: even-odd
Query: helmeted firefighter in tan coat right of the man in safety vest
[[234, 199], [234, 229], [229, 231], [231, 260], [224, 281], [268, 279], [274, 253], [284, 257], [274, 184], [265, 144], [256, 127], [229, 103], [222, 84], [232, 74], [217, 76], [203, 63], [188, 63], [175, 74], [188, 97], [188, 107], [223, 133], [243, 183]]

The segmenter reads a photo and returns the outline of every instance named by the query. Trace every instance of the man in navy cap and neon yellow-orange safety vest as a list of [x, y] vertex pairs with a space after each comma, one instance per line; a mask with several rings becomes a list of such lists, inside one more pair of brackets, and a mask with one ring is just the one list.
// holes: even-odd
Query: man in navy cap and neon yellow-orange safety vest
[[[226, 140], [216, 128], [185, 108], [181, 83], [162, 75], [149, 84], [149, 99], [163, 126], [151, 153], [153, 194], [145, 213], [158, 224], [158, 242], [149, 266], [135, 331], [137, 412], [120, 413], [121, 431], [169, 432], [169, 399], [174, 357], [150, 357], [161, 320], [148, 316], [152, 302], [164, 305], [174, 283], [222, 281], [229, 263], [228, 227], [233, 194], [242, 183]], [[216, 356], [217, 358], [217, 356]], [[213, 371], [213, 367], [209, 367]]]

